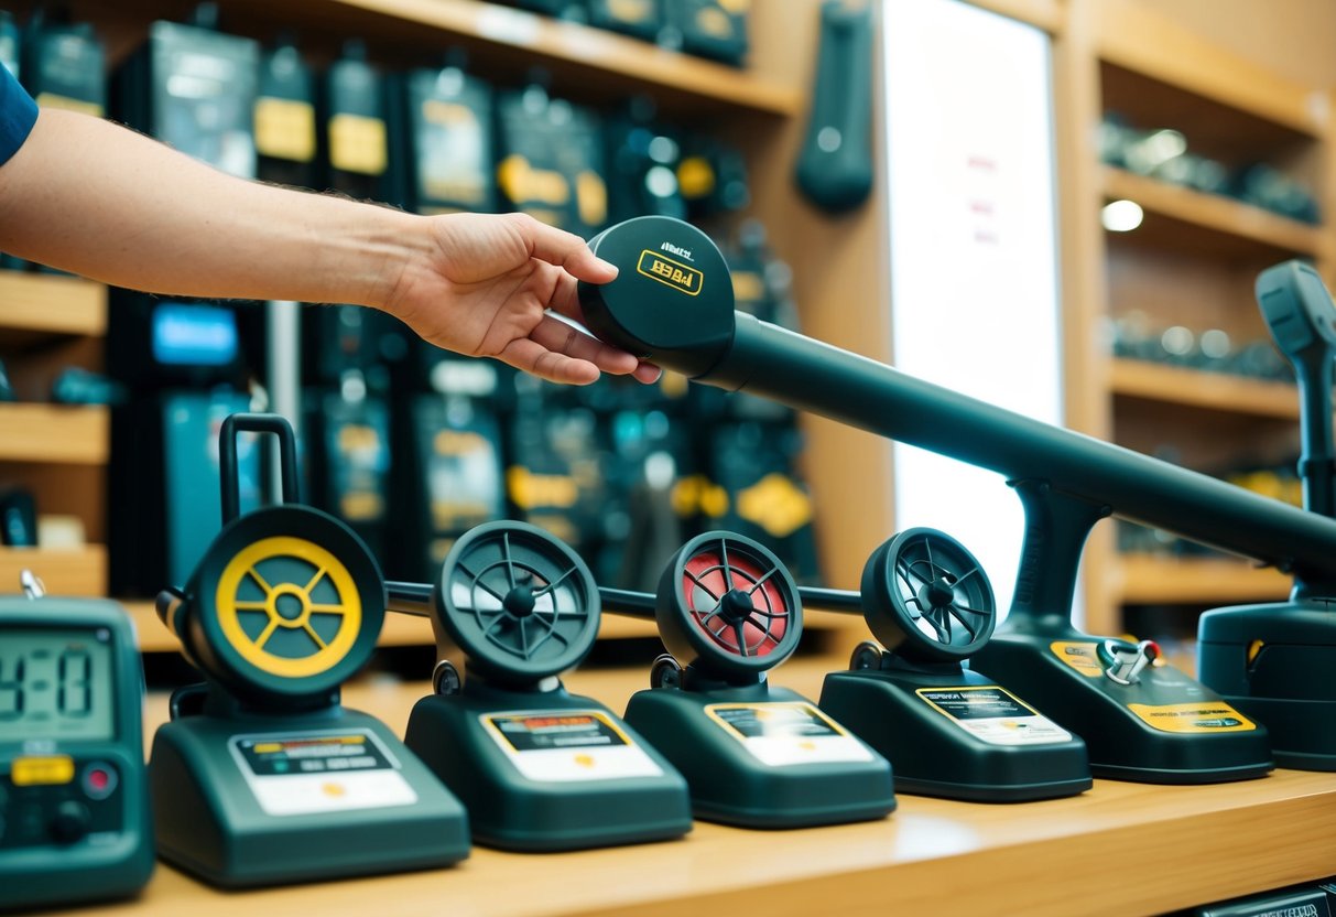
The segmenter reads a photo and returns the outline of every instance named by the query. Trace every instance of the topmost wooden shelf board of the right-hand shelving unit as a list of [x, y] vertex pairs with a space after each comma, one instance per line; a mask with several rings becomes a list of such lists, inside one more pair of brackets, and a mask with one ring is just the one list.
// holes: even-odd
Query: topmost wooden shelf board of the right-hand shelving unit
[[[1329, 116], [1325, 92], [1232, 53], [1138, 0], [1101, 0], [1092, 9], [1098, 56], [1164, 84], [1157, 95], [1168, 104], [1188, 107], [1181, 96], [1190, 94], [1299, 135], [1324, 135]], [[1196, 100], [1189, 104], [1200, 108]], [[1176, 127], [1189, 142], [1201, 139], [1201, 132], [1181, 122], [1168, 119], [1154, 126]], [[1209, 124], [1205, 128], [1209, 131]]]

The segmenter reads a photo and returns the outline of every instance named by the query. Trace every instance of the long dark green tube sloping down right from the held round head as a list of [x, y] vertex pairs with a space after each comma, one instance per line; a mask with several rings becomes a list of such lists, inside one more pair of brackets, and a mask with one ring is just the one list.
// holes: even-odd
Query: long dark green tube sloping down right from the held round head
[[772, 398], [1013, 481], [1042, 480], [1120, 516], [1292, 568], [1305, 579], [1336, 580], [1332, 520], [977, 401], [752, 315], [735, 315], [731, 345], [696, 381]]

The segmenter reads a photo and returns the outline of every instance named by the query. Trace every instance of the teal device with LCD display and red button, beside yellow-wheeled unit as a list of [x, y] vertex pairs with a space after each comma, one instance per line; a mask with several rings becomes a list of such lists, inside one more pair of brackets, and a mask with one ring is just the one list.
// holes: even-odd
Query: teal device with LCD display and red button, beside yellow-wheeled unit
[[148, 882], [143, 703], [120, 606], [0, 598], [0, 910]]

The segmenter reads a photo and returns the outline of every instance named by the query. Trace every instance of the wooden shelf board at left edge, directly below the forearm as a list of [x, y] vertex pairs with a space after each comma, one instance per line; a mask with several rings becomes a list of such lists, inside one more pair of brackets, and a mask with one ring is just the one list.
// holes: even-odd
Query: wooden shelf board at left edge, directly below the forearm
[[0, 270], [0, 348], [107, 333], [107, 287], [72, 277]]

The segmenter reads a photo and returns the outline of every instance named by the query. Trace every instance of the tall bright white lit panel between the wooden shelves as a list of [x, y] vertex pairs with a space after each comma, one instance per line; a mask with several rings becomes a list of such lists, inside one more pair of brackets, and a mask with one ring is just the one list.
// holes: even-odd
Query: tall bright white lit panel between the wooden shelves
[[[882, 4], [895, 366], [1062, 422], [1049, 36], [958, 0]], [[993, 472], [895, 444], [896, 531], [939, 528], [1011, 603], [1025, 529]]]

